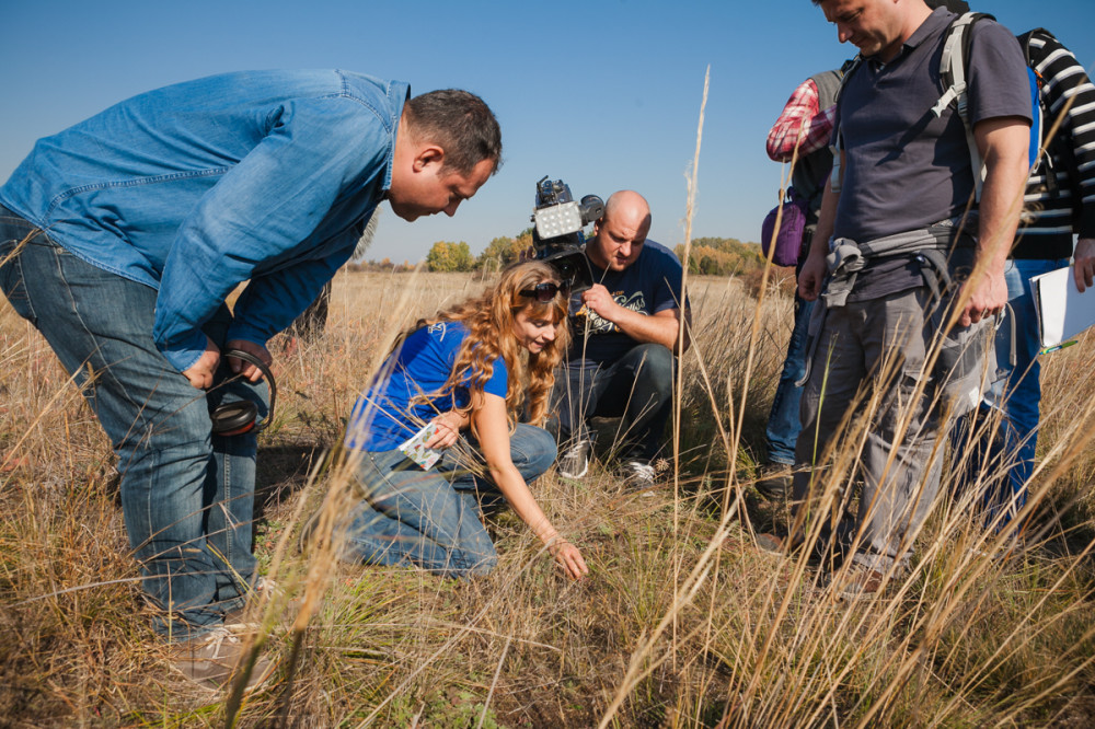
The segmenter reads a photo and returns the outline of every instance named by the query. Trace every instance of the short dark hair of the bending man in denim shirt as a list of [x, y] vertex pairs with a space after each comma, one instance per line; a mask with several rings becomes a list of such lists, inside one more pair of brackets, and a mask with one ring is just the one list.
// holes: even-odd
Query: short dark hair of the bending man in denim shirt
[[[404, 107], [411, 134], [445, 150], [445, 166], [466, 175], [483, 160], [502, 166], [502, 129], [482, 99], [460, 89], [415, 96]], [[493, 174], [493, 173], [492, 173]]]

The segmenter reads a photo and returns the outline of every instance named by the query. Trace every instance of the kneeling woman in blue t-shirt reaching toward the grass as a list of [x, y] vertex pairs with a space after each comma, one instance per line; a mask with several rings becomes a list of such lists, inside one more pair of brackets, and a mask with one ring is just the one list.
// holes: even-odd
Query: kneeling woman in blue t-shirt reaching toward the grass
[[[555, 440], [516, 421], [522, 412], [533, 424], [548, 416], [569, 342], [568, 293], [549, 265], [518, 264], [482, 296], [404, 334], [355, 405], [346, 438], [365, 451], [357, 470], [365, 498], [348, 532], [357, 558], [410, 560], [447, 576], [485, 574], [498, 558], [480, 500], [497, 502], [500, 494], [570, 577], [588, 572], [528, 487], [554, 462]], [[424, 470], [429, 451], [400, 445], [427, 425], [422, 445], [441, 458]]]

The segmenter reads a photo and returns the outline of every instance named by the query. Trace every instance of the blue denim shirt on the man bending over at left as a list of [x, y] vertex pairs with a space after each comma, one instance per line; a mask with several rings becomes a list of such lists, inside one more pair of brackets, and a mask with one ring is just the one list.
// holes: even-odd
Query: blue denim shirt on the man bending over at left
[[241, 281], [230, 339], [287, 327], [391, 186], [401, 81], [226, 73], [124, 101], [53, 137], [0, 202], [73, 255], [159, 290], [152, 336], [183, 371]]

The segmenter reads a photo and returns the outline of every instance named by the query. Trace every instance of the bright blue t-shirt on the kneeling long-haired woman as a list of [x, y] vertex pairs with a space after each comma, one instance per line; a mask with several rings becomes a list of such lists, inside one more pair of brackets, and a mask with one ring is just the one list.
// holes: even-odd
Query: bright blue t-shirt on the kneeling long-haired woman
[[[381, 375], [354, 405], [346, 445], [364, 451], [391, 451], [422, 430], [439, 413], [468, 405], [468, 387], [411, 405], [419, 395], [438, 392], [452, 373], [468, 328], [460, 322], [438, 322], [416, 329], [384, 362]], [[483, 392], [505, 398], [506, 361], [495, 359]], [[464, 380], [466, 383], [468, 379]]]

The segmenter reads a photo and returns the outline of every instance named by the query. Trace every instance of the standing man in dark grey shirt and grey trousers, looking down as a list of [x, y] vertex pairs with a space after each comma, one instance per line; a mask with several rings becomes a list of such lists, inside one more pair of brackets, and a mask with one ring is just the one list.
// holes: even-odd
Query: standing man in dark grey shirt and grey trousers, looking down
[[981, 171], [954, 105], [933, 113], [954, 15], [924, 0], [812, 2], [842, 43], [858, 47], [861, 61], [838, 99], [839, 158], [799, 277], [807, 300], [826, 285], [803, 392], [789, 546], [803, 541], [811, 490], [817, 497], [822, 485], [835, 486], [812, 466], [851, 425], [845, 432], [855, 437], [844, 448], [862, 443], [853, 462], [863, 488], [851, 569], [837, 587], [853, 598], [879, 591], [908, 565], [938, 490], [944, 415], [980, 396], [987, 320], [1006, 302], [1003, 269], [1027, 176], [1030, 95], [1014, 36], [978, 23], [968, 112], [984, 183], [977, 215], [967, 215]]

